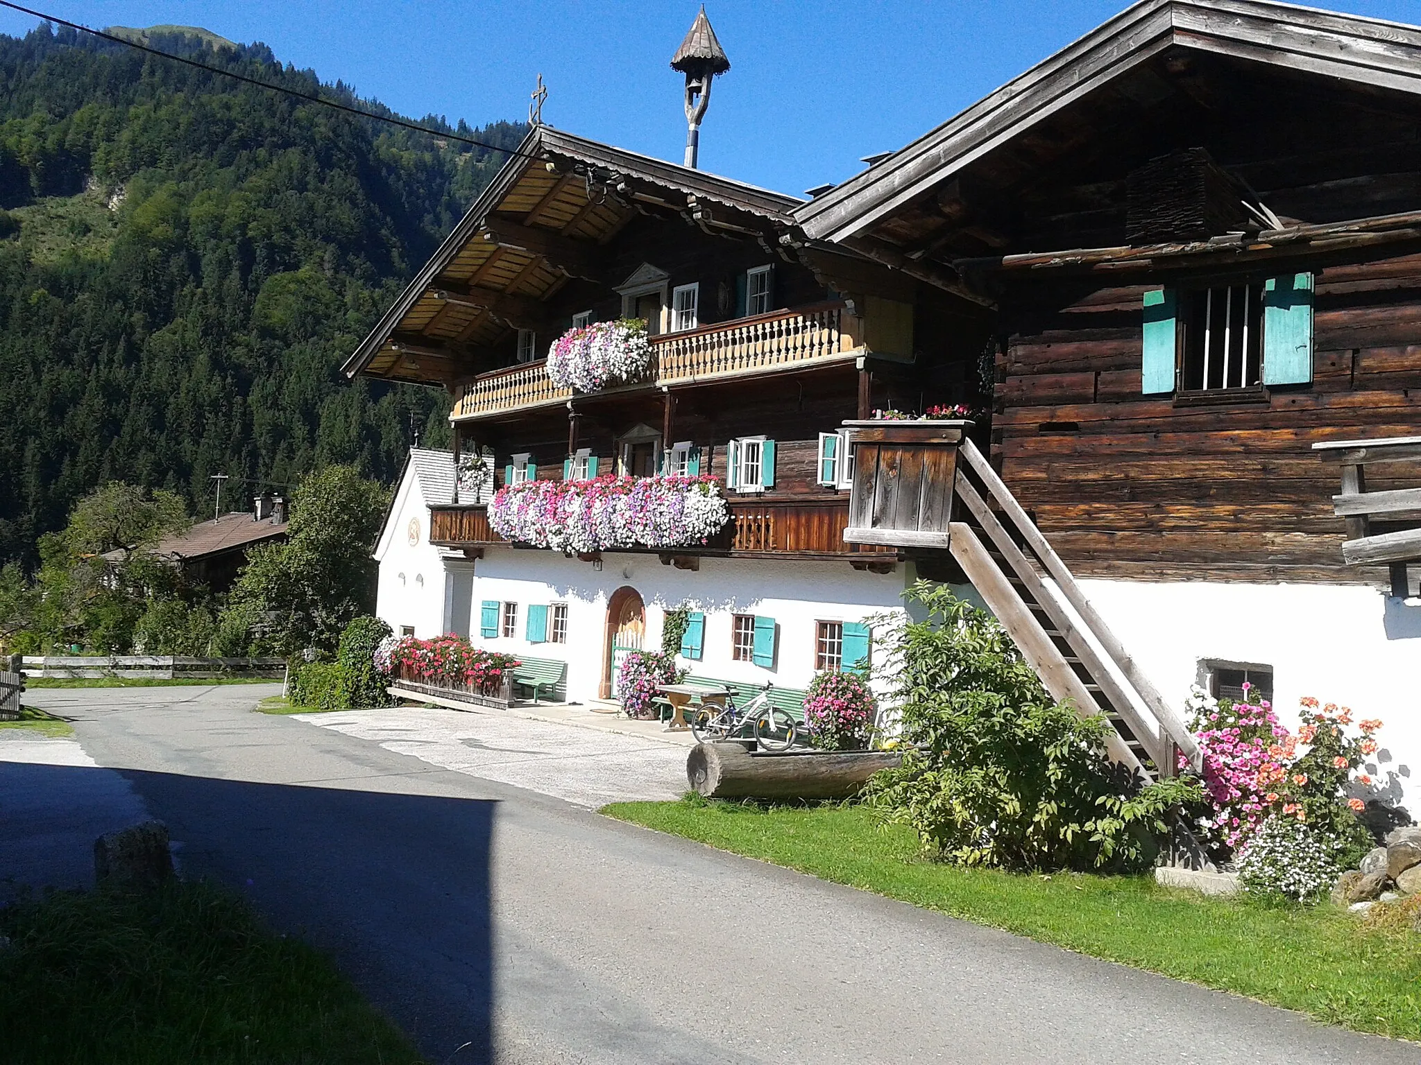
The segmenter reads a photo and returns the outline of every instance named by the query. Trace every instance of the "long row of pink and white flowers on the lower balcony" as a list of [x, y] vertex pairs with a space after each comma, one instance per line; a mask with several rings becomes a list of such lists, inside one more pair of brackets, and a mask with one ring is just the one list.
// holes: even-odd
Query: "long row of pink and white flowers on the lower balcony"
[[617, 477], [506, 484], [489, 504], [504, 540], [566, 554], [628, 547], [692, 547], [730, 514], [715, 477]]

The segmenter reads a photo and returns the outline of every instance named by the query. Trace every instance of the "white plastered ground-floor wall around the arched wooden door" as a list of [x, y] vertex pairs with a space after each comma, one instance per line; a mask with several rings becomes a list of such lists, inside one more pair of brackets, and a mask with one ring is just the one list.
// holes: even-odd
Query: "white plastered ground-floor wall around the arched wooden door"
[[[475, 645], [567, 666], [567, 697], [595, 699], [603, 679], [607, 604], [622, 586], [635, 588], [647, 606], [648, 650], [661, 649], [665, 611], [681, 604], [705, 613], [705, 642], [696, 662], [679, 660], [696, 676], [747, 683], [773, 682], [803, 689], [814, 674], [814, 622], [857, 622], [902, 611], [905, 568], [891, 574], [853, 569], [847, 562], [774, 562], [701, 559], [699, 571], [662, 565], [657, 555], [604, 554], [598, 571], [590, 562], [551, 551], [489, 548], [475, 567]], [[519, 604], [519, 635], [485, 639], [479, 609], [485, 601]], [[566, 645], [529, 643], [530, 604], [567, 604]], [[733, 613], [756, 613], [779, 623], [774, 669], [730, 657]]]

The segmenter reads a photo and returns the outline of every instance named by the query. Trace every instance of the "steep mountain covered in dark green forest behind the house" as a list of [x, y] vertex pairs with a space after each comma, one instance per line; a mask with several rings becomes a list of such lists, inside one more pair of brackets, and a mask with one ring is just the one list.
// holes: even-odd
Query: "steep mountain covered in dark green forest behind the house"
[[[392, 114], [261, 44], [144, 40]], [[446, 437], [443, 393], [338, 366], [503, 158], [87, 34], [0, 36], [0, 561], [107, 480], [202, 513], [212, 474], [242, 507], [327, 462], [389, 480], [412, 427]]]

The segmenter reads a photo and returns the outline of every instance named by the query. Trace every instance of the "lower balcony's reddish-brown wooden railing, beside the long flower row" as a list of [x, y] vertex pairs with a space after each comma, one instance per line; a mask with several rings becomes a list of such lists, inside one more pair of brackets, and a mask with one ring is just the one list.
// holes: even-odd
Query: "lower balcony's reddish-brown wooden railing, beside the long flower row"
[[[844, 542], [848, 525], [847, 498], [729, 500], [730, 521], [709, 544], [641, 554], [722, 555], [742, 558], [850, 558], [891, 562], [897, 548]], [[506, 544], [489, 528], [486, 507], [431, 507], [429, 542], [453, 550]]]

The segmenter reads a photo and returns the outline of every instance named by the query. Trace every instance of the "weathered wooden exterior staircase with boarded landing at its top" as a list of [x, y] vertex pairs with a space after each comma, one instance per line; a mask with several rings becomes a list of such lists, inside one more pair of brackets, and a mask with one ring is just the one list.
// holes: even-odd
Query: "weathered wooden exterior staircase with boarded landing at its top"
[[968, 422], [850, 422], [850, 542], [946, 550], [1053, 699], [1114, 726], [1113, 761], [1172, 775], [1198, 744], [978, 447]]

